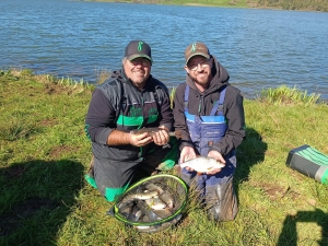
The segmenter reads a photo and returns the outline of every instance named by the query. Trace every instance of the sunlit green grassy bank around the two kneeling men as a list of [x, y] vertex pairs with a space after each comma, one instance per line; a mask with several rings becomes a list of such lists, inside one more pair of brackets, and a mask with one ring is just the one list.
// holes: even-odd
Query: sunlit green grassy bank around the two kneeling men
[[0, 245], [328, 245], [328, 186], [285, 166], [303, 144], [328, 154], [327, 105], [288, 89], [245, 99], [236, 220], [208, 221], [189, 203], [177, 226], [141, 234], [105, 215], [112, 203], [83, 179], [92, 90], [0, 71]]

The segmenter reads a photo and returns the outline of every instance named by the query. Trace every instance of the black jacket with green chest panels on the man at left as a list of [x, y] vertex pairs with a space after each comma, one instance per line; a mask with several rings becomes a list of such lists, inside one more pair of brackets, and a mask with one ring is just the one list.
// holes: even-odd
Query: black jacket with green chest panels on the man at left
[[92, 151], [98, 160], [137, 161], [156, 145], [144, 148], [107, 145], [115, 129], [130, 132], [142, 127], [165, 126], [173, 129], [173, 114], [167, 87], [152, 75], [144, 89], [137, 89], [124, 70], [112, 77], [93, 92], [85, 117], [85, 132], [92, 141]]

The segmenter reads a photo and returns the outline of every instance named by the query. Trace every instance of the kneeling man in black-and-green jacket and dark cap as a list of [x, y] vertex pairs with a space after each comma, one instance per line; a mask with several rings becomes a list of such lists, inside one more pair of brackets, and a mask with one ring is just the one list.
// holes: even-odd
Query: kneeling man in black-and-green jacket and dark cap
[[[109, 201], [137, 177], [169, 169], [176, 162], [176, 139], [167, 87], [151, 75], [150, 46], [132, 40], [125, 49], [122, 69], [93, 92], [85, 117], [93, 159], [85, 175]], [[160, 128], [137, 134], [140, 128]]]

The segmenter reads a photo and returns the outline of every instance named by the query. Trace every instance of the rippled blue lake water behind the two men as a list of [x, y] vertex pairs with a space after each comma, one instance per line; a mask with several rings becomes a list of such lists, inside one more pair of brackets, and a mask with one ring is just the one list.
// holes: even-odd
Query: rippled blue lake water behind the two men
[[328, 13], [66, 0], [1, 0], [0, 13], [0, 69], [95, 83], [143, 39], [152, 74], [176, 86], [185, 48], [200, 40], [246, 97], [285, 84], [328, 99]]

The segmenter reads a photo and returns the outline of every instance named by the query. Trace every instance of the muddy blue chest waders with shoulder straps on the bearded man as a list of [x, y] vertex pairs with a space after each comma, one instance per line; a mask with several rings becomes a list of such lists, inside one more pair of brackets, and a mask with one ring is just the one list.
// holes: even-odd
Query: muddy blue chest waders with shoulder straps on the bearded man
[[[208, 156], [212, 144], [216, 144], [227, 130], [223, 104], [226, 86], [221, 91], [220, 98], [214, 103], [210, 116], [191, 115], [188, 113], [188, 97], [190, 87], [185, 91], [185, 117], [190, 138], [195, 148], [202, 156]], [[200, 98], [199, 108], [203, 98]], [[200, 109], [199, 109], [200, 113]], [[233, 175], [236, 168], [235, 150], [224, 156], [225, 167], [215, 175], [181, 169], [181, 178], [189, 185], [195, 185], [200, 192], [200, 199], [208, 209], [209, 215], [216, 221], [233, 220], [237, 214], [237, 199], [233, 189]]]

